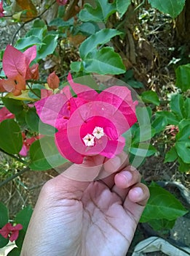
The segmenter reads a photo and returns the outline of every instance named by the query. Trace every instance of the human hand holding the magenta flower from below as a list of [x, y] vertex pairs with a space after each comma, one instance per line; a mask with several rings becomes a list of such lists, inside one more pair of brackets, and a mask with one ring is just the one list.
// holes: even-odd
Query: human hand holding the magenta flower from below
[[[89, 167], [90, 172], [92, 159], [98, 157], [69, 168], [80, 172]], [[128, 165], [124, 153], [102, 167], [112, 174], [98, 181], [75, 181], [63, 174], [47, 181], [21, 256], [126, 255], [149, 189], [140, 183], [138, 170]]]

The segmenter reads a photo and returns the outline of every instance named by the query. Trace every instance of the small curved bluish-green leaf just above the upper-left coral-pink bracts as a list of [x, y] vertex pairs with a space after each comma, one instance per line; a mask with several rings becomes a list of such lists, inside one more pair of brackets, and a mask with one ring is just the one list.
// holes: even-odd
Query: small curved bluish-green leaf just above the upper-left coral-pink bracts
[[18, 39], [15, 48], [17, 48], [17, 50], [25, 50], [26, 48], [29, 48], [33, 45], [41, 45], [41, 39], [32, 35], [30, 37], [23, 37]]

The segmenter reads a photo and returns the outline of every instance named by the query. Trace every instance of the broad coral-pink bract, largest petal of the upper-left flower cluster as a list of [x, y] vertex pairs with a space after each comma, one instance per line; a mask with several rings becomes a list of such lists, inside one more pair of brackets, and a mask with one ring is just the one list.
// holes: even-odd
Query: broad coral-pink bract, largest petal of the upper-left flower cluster
[[25, 78], [26, 65], [25, 55], [16, 48], [8, 45], [4, 51], [3, 69], [8, 78], [15, 78], [17, 75], [22, 75]]

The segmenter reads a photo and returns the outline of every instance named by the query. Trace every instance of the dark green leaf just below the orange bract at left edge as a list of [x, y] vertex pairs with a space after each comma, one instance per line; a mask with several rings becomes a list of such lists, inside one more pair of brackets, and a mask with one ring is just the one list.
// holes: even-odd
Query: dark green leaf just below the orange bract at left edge
[[18, 114], [23, 111], [23, 102], [17, 99], [10, 99], [7, 97], [1, 98], [4, 106], [13, 114]]

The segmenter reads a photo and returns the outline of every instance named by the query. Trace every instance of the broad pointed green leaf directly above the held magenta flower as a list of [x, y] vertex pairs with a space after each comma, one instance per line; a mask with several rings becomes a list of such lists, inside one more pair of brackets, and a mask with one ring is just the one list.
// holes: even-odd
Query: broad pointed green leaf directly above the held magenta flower
[[125, 72], [121, 56], [110, 47], [102, 48], [96, 53], [89, 53], [83, 65], [85, 72], [95, 72], [100, 75], [117, 75]]

